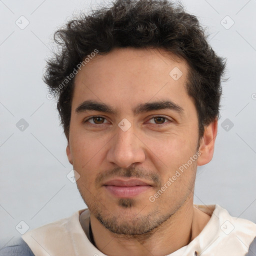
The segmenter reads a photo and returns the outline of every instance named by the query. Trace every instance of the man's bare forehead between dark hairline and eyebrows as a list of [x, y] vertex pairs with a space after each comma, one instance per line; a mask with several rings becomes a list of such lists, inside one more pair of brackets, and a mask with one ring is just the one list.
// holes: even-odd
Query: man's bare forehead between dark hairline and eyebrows
[[[163, 49], [116, 48], [97, 54], [75, 76], [72, 105], [87, 99], [119, 103], [189, 99], [185, 60]], [[73, 107], [72, 107], [73, 108]]]

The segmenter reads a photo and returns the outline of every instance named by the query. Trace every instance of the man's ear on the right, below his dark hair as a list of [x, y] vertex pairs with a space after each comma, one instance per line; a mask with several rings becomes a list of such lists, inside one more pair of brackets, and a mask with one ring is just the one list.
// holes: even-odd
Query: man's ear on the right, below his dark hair
[[214, 144], [217, 135], [217, 118], [211, 122], [208, 126], [204, 127], [203, 136], [200, 139], [199, 152], [200, 155], [197, 159], [197, 165], [203, 165], [208, 163], [213, 156]]

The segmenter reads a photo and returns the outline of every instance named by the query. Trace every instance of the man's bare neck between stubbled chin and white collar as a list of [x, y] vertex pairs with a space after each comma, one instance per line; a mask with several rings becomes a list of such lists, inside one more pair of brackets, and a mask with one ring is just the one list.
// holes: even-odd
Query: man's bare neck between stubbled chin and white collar
[[95, 245], [109, 256], [168, 255], [193, 240], [209, 219], [193, 206], [192, 197], [157, 228], [141, 235], [112, 233], [90, 215]]

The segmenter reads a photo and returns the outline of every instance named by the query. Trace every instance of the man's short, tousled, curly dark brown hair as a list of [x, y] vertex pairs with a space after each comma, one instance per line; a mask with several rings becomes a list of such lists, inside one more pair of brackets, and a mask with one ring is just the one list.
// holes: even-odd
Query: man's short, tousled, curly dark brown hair
[[57, 97], [67, 139], [74, 80], [68, 75], [95, 49], [106, 54], [116, 47], [162, 48], [187, 61], [186, 89], [197, 110], [200, 138], [205, 125], [219, 118], [225, 69], [224, 58], [215, 54], [206, 37], [194, 15], [168, 0], [115, 0], [110, 7], [82, 13], [58, 29], [54, 41], [61, 50], [47, 61], [43, 80]]

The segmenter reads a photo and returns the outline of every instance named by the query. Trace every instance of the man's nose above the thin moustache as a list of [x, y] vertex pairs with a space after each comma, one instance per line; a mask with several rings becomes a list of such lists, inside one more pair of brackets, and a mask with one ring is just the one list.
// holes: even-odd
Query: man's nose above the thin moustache
[[106, 160], [122, 168], [145, 160], [144, 144], [135, 134], [133, 126], [126, 131], [116, 127], [116, 134], [111, 139]]

